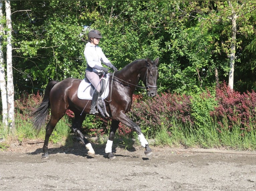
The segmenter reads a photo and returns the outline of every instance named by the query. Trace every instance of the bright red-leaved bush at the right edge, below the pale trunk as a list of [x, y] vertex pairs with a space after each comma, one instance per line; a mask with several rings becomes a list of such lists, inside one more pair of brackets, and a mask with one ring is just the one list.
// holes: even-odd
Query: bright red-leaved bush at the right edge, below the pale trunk
[[255, 129], [256, 93], [254, 91], [240, 94], [223, 83], [216, 89], [216, 100], [218, 106], [211, 112], [211, 116], [216, 117], [220, 127], [224, 127], [223, 121], [226, 120], [229, 129], [232, 129], [234, 125], [240, 126], [241, 130], [246, 131]]

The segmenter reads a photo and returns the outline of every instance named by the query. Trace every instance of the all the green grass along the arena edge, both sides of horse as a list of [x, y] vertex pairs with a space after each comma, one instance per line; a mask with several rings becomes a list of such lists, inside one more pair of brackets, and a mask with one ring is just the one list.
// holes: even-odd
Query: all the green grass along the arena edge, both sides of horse
[[[45, 128], [42, 128], [37, 133], [29, 120], [24, 120], [19, 117], [16, 118], [15, 133], [11, 135], [8, 129], [0, 126], [0, 139], [5, 141], [0, 142], [0, 149], [8, 148], [8, 144], [17, 140], [22, 143], [27, 139], [42, 139], [44, 140]], [[70, 136], [71, 122], [65, 116], [59, 120], [55, 129], [50, 136], [52, 143], [60, 143], [63, 145], [72, 145], [73, 137]], [[256, 131], [241, 130], [240, 126], [233, 126], [228, 128], [228, 124], [223, 122], [224, 127], [220, 129], [217, 121], [209, 118], [204, 121], [203, 125], [196, 126], [189, 123], [181, 123], [175, 117], [166, 123], [162, 120], [161, 125], [156, 127], [148, 127], [142, 125], [142, 132], [147, 140], [154, 139], [155, 146], [174, 146], [174, 147], [201, 147], [201, 148], [219, 148], [225, 147], [235, 150], [256, 150]], [[46, 125], [46, 124], [45, 124]], [[44, 126], [45, 126], [44, 125]], [[154, 132], [154, 133], [152, 133]], [[153, 134], [153, 135], [152, 135]], [[98, 137], [99, 144], [105, 144], [106, 136]], [[133, 132], [127, 137], [118, 137], [119, 145], [125, 149], [130, 149], [134, 144], [140, 145], [137, 140], [137, 134]]]

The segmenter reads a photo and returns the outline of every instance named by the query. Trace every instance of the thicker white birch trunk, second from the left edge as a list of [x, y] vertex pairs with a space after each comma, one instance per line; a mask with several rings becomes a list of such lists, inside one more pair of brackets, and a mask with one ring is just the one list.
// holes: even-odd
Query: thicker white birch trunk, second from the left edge
[[6, 45], [6, 65], [7, 65], [7, 104], [8, 104], [8, 122], [11, 133], [14, 132], [14, 86], [12, 73], [12, 21], [10, 1], [5, 1], [7, 45]]

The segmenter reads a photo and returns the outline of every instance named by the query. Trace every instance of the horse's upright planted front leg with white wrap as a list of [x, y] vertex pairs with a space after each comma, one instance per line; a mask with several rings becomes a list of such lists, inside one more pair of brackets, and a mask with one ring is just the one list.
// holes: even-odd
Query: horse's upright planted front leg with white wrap
[[105, 152], [108, 154], [109, 159], [116, 158], [116, 156], [112, 153], [112, 144], [116, 134], [116, 130], [118, 128], [118, 124], [119, 124], [119, 121], [112, 120], [110, 132], [109, 132], [109, 139], [107, 141], [106, 148], [105, 148]]

